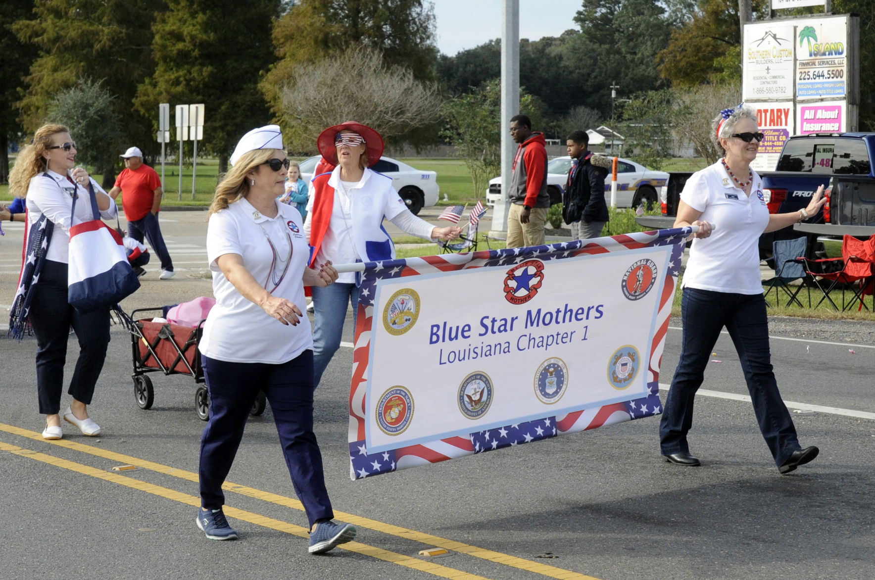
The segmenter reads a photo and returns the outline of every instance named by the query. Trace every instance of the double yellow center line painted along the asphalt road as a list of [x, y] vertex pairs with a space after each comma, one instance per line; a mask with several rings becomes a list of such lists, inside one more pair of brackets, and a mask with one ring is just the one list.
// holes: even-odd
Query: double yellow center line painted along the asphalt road
[[[148, 461], [146, 459], [135, 458], [130, 455], [124, 455], [123, 453], [116, 453], [115, 451], [108, 451], [105, 449], [94, 447], [92, 445], [81, 444], [66, 439], [45, 441], [38, 432], [21, 429], [13, 425], [7, 425], [5, 423], [0, 423], [0, 431], [5, 431], [6, 433], [10, 433], [18, 437], [32, 439], [34, 441], [38, 441], [39, 443], [65, 447], [66, 449], [71, 451], [87, 453], [88, 455], [93, 455], [95, 457], [109, 459], [111, 461], [117, 461], [122, 464], [134, 465], [141, 469], [163, 473], [174, 478], [186, 479], [188, 481], [198, 483], [197, 473], [176, 469], [174, 467], [158, 464], [152, 461]], [[200, 498], [187, 493], [180, 493], [168, 487], [156, 486], [150, 483], [145, 483], [144, 481], [133, 479], [124, 475], [119, 475], [115, 472], [107, 472], [102, 469], [91, 467], [90, 465], [83, 465], [66, 459], [56, 458], [52, 455], [48, 455], [38, 451], [24, 449], [22, 447], [18, 447], [17, 445], [8, 444], [3, 441], [0, 441], [0, 451], [8, 451], [24, 458], [31, 458], [48, 465], [54, 465], [62, 469], [82, 473], [84, 475], [88, 475], [97, 479], [103, 479], [104, 481], [109, 481], [110, 483], [114, 483], [116, 485], [130, 487], [132, 489], [137, 489], [145, 493], [152, 493], [167, 500], [179, 501], [180, 503], [184, 503], [189, 506], [200, 506]], [[255, 489], [254, 487], [241, 486], [235, 483], [225, 482], [225, 484], [222, 486], [222, 489], [227, 492], [239, 493], [250, 498], [255, 498], [256, 500], [267, 501], [278, 506], [289, 507], [291, 509], [304, 511], [304, 506], [298, 500], [283, 495], [278, 495], [276, 493], [265, 492], [259, 489]], [[236, 507], [225, 506], [224, 511], [225, 514], [228, 515], [228, 517], [232, 517], [237, 520], [248, 521], [249, 523], [253, 523], [264, 528], [275, 529], [277, 531], [284, 532], [290, 535], [297, 535], [302, 538], [309, 537], [309, 535], [307, 534], [307, 528], [303, 528], [295, 524], [290, 524], [286, 521], [280, 521], [264, 515], [255, 514], [253, 512], [247, 512]], [[526, 560], [525, 558], [510, 556], [507, 554], [502, 554], [500, 552], [495, 552], [493, 550], [478, 548], [470, 544], [455, 542], [453, 540], [442, 538], [437, 535], [417, 532], [416, 530], [402, 528], [400, 526], [394, 526], [392, 524], [371, 520], [369, 518], [364, 518], [358, 515], [346, 514], [344, 512], [338, 511], [335, 511], [334, 514], [339, 520], [348, 521], [357, 528], [372, 529], [376, 532], [380, 532], [381, 534], [395, 535], [406, 540], [421, 542], [426, 546], [437, 546], [438, 548], [444, 548], [453, 552], [458, 552], [459, 554], [465, 554], [467, 556], [487, 560], [489, 562], [503, 564], [520, 570], [528, 570], [529, 572], [539, 574], [544, 577], [562, 578], [569, 580], [598, 580], [597, 578], [586, 576], [584, 574], [579, 574], [571, 570], [563, 570], [562, 568], [556, 568], [556, 566], [549, 566], [547, 564], [532, 562], [531, 560]], [[346, 544], [342, 544], [341, 546], [339, 546], [339, 548], [346, 549], [351, 552], [356, 552], [363, 556], [371, 556], [384, 562], [395, 563], [413, 570], [428, 572], [429, 574], [437, 577], [453, 578], [458, 580], [485, 580], [484, 577], [470, 574], [463, 570], [456, 570], [447, 566], [442, 566], [437, 563], [428, 562], [419, 558], [406, 556], [404, 554], [398, 554], [396, 552], [391, 552], [360, 542], [348, 542]]]

